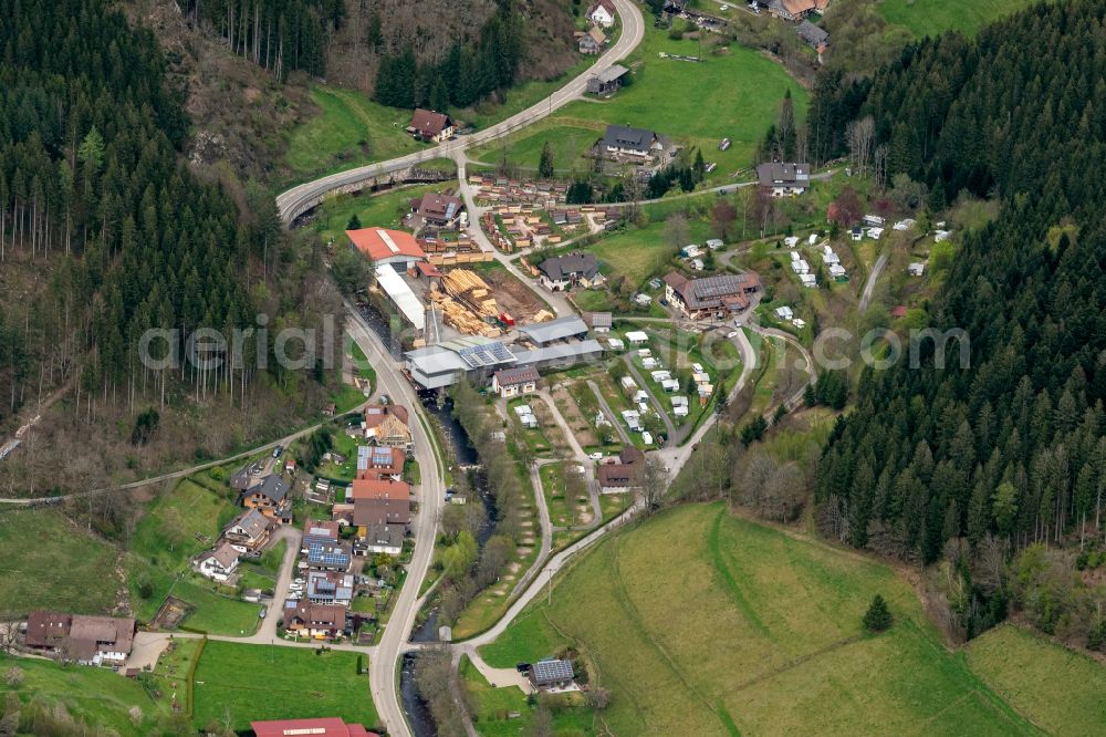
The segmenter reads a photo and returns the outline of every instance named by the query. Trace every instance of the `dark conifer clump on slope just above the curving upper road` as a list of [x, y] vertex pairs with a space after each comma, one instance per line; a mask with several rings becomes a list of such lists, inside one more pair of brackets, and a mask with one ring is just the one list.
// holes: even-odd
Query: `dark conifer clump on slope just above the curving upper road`
[[522, 17], [510, 0], [500, 2], [494, 15], [471, 46], [456, 42], [438, 62], [419, 64], [410, 45], [380, 61], [376, 98], [394, 107], [466, 107], [515, 82], [525, 48]]

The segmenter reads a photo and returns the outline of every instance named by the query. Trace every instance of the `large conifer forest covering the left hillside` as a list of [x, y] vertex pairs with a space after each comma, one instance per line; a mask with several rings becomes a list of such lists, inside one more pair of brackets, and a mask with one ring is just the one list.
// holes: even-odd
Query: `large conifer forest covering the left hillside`
[[182, 352], [197, 328], [229, 335], [271, 307], [271, 196], [236, 201], [180, 160], [189, 121], [157, 41], [104, 0], [6, 3], [0, 54], [0, 282], [19, 294], [0, 311], [0, 419], [43, 387], [82, 417], [164, 406], [178, 384], [239, 399], [254, 344], [237, 371], [148, 371], [139, 338], [178, 329]]

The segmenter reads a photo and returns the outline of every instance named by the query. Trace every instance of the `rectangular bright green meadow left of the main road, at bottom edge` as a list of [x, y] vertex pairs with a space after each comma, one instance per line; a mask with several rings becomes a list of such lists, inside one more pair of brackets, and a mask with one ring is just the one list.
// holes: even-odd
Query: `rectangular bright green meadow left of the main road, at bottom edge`
[[232, 729], [242, 730], [251, 719], [320, 714], [369, 728], [377, 720], [368, 677], [357, 675], [354, 653], [212, 641], [200, 656], [194, 689], [192, 723], [200, 729], [229, 720]]

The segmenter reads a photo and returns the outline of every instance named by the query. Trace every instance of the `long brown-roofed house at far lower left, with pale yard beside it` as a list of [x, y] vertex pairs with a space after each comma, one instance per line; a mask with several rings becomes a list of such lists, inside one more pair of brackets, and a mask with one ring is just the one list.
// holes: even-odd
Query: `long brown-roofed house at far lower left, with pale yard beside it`
[[122, 665], [131, 655], [134, 636], [133, 619], [35, 611], [28, 617], [24, 643], [82, 665]]

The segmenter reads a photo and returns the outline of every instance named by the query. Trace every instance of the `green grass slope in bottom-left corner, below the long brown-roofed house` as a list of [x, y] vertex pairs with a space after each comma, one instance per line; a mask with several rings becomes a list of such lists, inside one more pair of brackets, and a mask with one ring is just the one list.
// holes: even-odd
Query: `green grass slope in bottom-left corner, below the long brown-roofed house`
[[[63, 706], [80, 722], [90, 726], [113, 729], [114, 734], [145, 737], [155, 733], [155, 722], [167, 709], [157, 704], [136, 681], [122, 678], [109, 668], [80, 665], [63, 667], [51, 661], [11, 657], [0, 654], [0, 672], [18, 666], [23, 672], [23, 683], [18, 689], [0, 679], [0, 697], [14, 691], [25, 704], [39, 699], [51, 708]], [[142, 718], [135, 724], [128, 714], [137, 706]], [[29, 729], [19, 734], [44, 734]]]

